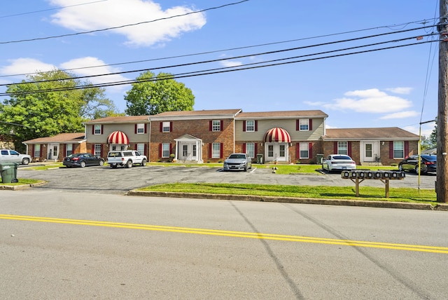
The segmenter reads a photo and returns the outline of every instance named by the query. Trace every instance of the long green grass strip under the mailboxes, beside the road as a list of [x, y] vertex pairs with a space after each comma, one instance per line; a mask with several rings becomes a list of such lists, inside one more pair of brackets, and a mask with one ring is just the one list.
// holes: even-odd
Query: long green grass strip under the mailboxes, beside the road
[[360, 186], [356, 197], [354, 186], [290, 186], [276, 184], [160, 184], [147, 186], [139, 191], [167, 191], [180, 193], [220, 193], [226, 195], [276, 196], [297, 198], [327, 198], [350, 200], [377, 200], [409, 203], [435, 204], [437, 197], [433, 189], [390, 188], [389, 198], [385, 189]]

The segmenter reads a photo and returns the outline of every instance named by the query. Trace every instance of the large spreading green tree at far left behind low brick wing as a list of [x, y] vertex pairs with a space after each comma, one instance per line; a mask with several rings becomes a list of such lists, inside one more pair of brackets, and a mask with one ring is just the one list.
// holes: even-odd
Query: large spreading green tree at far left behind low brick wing
[[53, 70], [8, 86], [10, 99], [0, 104], [0, 132], [12, 135], [16, 149], [22, 149], [22, 142], [28, 139], [83, 132], [83, 121], [115, 110], [102, 89], [71, 89], [89, 84]]

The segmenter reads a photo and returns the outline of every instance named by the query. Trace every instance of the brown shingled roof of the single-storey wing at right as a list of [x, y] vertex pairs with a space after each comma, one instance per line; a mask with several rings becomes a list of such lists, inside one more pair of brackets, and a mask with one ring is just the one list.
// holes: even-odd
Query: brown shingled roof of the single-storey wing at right
[[398, 127], [386, 128], [331, 128], [322, 137], [325, 140], [402, 139], [415, 140], [419, 135]]

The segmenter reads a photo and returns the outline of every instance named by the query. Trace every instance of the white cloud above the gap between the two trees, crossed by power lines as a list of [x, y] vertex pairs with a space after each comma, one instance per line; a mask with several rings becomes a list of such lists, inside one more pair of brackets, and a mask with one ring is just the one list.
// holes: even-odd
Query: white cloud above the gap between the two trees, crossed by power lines
[[[99, 60], [97, 57], [80, 57], [76, 58], [74, 60], [69, 60], [68, 62], [63, 62], [60, 67], [61, 69], [73, 69], [72, 71], [69, 71], [73, 74], [78, 74], [79, 76], [94, 76], [94, 75], [101, 75], [101, 74], [110, 74], [110, 73], [116, 73], [120, 71], [117, 68], [113, 68], [111, 66], [106, 66], [106, 63], [102, 60]], [[102, 66], [102, 67], [94, 67], [92, 66]], [[78, 69], [82, 68], [82, 69]], [[127, 79], [124, 76], [121, 76], [120, 74], [112, 74], [107, 76], [95, 76], [90, 77], [88, 81], [91, 83], [96, 84], [102, 84], [102, 83], [111, 83], [111, 82], [117, 82], [117, 81], [127, 81]], [[109, 90], [123, 90], [123, 86], [110, 86], [108, 88]]]

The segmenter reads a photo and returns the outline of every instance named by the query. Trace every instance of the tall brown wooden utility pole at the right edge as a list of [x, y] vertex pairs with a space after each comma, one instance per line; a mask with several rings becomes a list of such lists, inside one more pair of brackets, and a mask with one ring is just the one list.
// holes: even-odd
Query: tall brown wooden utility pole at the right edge
[[440, 0], [440, 22], [437, 30], [440, 34], [439, 44], [439, 99], [437, 109], [437, 202], [448, 202], [448, 163], [447, 163], [447, 111], [448, 111], [448, 0]]

